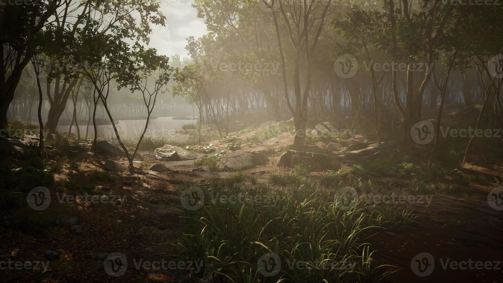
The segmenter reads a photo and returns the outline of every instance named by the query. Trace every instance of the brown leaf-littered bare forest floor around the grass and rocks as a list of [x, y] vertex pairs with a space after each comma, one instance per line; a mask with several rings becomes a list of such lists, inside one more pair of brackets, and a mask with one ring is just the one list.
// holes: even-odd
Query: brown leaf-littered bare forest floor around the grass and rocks
[[[258, 130], [239, 135], [245, 139]], [[344, 146], [362, 142], [364, 135], [352, 139], [338, 139]], [[335, 140], [334, 140], [335, 141]], [[277, 167], [280, 155], [293, 142], [291, 133], [284, 132], [262, 142], [250, 142], [241, 145], [241, 150], [262, 152], [269, 162], [245, 170], [247, 176], [257, 177], [254, 182], [270, 181], [271, 173], [287, 173], [291, 169]], [[8, 150], [22, 150], [28, 147], [28, 140], [2, 141], [2, 147]], [[225, 143], [219, 140], [213, 144], [216, 152], [225, 149]], [[424, 158], [420, 148], [411, 152]], [[314, 142], [306, 146], [305, 151], [336, 154], [328, 151], [326, 142]], [[135, 166], [147, 171], [147, 174], [113, 174], [103, 168], [105, 161], [111, 158], [95, 157], [78, 162], [73, 168], [63, 168], [54, 173], [55, 183], [66, 184], [64, 188], [51, 186], [51, 205], [43, 211], [34, 211], [24, 206], [19, 209], [0, 210], [3, 222], [16, 221], [16, 228], [0, 226], [0, 260], [19, 262], [45, 261], [47, 250], [56, 251], [60, 257], [50, 261], [47, 270], [0, 270], [1, 281], [6, 282], [124, 282], [124, 281], [159, 281], [175, 282], [184, 278], [186, 271], [179, 268], [152, 269], [141, 266], [141, 261], [160, 261], [166, 255], [176, 253], [175, 245], [183, 231], [185, 219], [181, 211], [181, 193], [190, 185], [211, 184], [215, 180], [229, 177], [231, 172], [211, 172], [208, 166], [196, 166], [194, 160], [162, 162], [155, 160], [152, 151], [140, 152], [144, 160], [135, 161]], [[199, 154], [200, 156], [202, 154]], [[112, 158], [113, 159], [113, 158]], [[127, 165], [125, 159], [115, 159]], [[19, 163], [18, 160], [2, 160]], [[163, 164], [170, 171], [159, 173], [148, 170], [154, 164]], [[16, 166], [14, 166], [16, 167]], [[501, 185], [497, 178], [503, 176], [503, 160], [493, 160], [487, 165], [475, 162], [453, 165], [463, 171], [462, 178], [446, 174], [441, 176], [444, 182], [454, 184], [456, 190], [449, 193], [431, 194], [431, 202], [406, 202], [403, 206], [413, 209], [417, 216], [415, 222], [405, 226], [383, 229], [379, 233], [368, 235], [362, 241], [372, 245], [377, 252], [373, 254], [375, 265], [388, 264], [395, 270], [385, 281], [389, 282], [501, 282], [503, 278], [503, 218], [501, 211], [488, 206], [487, 196], [494, 187]], [[345, 166], [343, 168], [349, 168]], [[202, 170], [201, 170], [202, 169]], [[318, 180], [322, 171], [308, 172], [306, 177]], [[484, 176], [484, 177], [477, 177]], [[494, 179], [496, 177], [496, 179]], [[410, 196], [410, 178], [376, 176], [374, 182], [394, 182], [395, 195]], [[246, 179], [243, 184], [253, 187]], [[8, 184], [6, 184], [8, 185]], [[108, 186], [103, 190], [103, 186]], [[271, 188], [281, 189], [280, 185]], [[74, 202], [60, 201], [67, 196], [79, 194], [118, 196], [122, 205], [111, 203], [90, 203], [82, 200]], [[152, 201], [157, 200], [157, 202]], [[81, 233], [71, 233], [64, 227], [64, 221], [70, 218], [78, 220]], [[21, 222], [21, 223], [20, 223]], [[37, 226], [40, 226], [38, 227]], [[37, 226], [33, 228], [32, 226]], [[8, 228], [6, 228], [8, 227]], [[414, 274], [411, 268], [416, 255], [430, 253], [435, 258], [435, 269], [428, 277]], [[110, 253], [123, 253], [128, 260], [124, 276], [114, 277], [102, 270], [100, 256]], [[482, 261], [499, 262], [497, 268], [470, 269], [449, 267], [446, 261]], [[15, 263], [12, 263], [15, 264]], [[444, 266], [447, 264], [447, 266]], [[0, 266], [2, 267], [2, 266]]]

